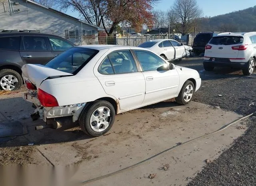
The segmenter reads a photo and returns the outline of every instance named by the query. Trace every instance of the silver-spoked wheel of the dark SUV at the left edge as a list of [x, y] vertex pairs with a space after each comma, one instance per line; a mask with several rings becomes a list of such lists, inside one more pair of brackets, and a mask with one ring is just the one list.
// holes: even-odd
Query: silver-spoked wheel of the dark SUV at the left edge
[[0, 90], [12, 91], [22, 86], [21, 75], [12, 69], [0, 70]]

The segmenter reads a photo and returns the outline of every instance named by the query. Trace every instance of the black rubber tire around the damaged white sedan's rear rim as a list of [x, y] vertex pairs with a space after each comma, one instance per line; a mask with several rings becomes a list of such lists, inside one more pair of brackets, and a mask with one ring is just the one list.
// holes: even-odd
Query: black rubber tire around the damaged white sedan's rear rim
[[[92, 129], [92, 127], [90, 126], [90, 118], [93, 115], [94, 111], [96, 109], [98, 109], [99, 107], [107, 107], [108, 109], [110, 109], [110, 121], [109, 121], [109, 125], [108, 127], [104, 130], [104, 131], [94, 131]], [[79, 117], [79, 124], [81, 129], [84, 131], [84, 133], [86, 133], [87, 135], [91, 136], [91, 137], [98, 137], [101, 136], [105, 133], [107, 133], [111, 127], [114, 124], [114, 120], [116, 117], [116, 111], [114, 109], [114, 106], [109, 103], [108, 101], [104, 101], [104, 100], [97, 100], [94, 101], [93, 103], [91, 103], [90, 105], [88, 105], [80, 114]], [[100, 118], [102, 119], [102, 118]], [[100, 120], [99, 119], [99, 120]], [[104, 121], [104, 120], [101, 120]]]

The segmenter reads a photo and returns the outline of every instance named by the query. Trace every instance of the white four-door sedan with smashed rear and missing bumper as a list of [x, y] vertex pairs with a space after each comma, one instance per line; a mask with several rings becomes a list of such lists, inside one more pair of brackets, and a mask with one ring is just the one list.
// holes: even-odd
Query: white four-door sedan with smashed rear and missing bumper
[[171, 98], [189, 103], [201, 85], [196, 70], [175, 67], [148, 49], [129, 46], [73, 47], [46, 65], [26, 64], [24, 99], [36, 105], [34, 119], [61, 127], [78, 121], [97, 137], [110, 130], [115, 115]]

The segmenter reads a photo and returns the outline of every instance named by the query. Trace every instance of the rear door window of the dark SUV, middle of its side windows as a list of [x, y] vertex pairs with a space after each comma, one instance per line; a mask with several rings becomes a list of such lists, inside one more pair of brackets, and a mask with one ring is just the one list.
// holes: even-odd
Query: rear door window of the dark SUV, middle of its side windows
[[23, 37], [23, 44], [24, 44], [25, 50], [28, 50], [28, 51], [48, 50], [45, 37], [25, 36]]

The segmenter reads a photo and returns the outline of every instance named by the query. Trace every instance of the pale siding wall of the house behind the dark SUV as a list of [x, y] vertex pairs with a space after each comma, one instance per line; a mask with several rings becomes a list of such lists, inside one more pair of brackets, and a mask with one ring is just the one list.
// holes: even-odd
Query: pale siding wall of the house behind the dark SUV
[[[95, 30], [96, 34], [94, 43], [97, 43], [97, 28], [48, 10], [41, 6], [26, 3], [26, 0], [15, 0], [12, 3], [13, 13], [10, 14], [6, 0], [0, 0], [0, 30], [40, 30], [40, 33], [54, 34], [62, 38], [65, 37], [65, 30], [78, 30], [79, 37], [77, 39], [68, 39], [71, 42], [81, 45], [81, 34], [83, 30]], [[19, 5], [14, 5], [19, 2]], [[17, 10], [20, 11], [17, 11]], [[83, 44], [87, 44], [87, 40]]]

